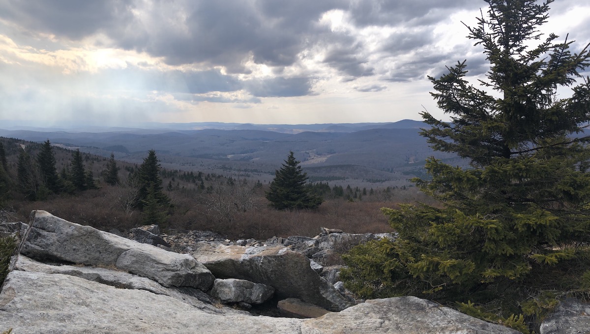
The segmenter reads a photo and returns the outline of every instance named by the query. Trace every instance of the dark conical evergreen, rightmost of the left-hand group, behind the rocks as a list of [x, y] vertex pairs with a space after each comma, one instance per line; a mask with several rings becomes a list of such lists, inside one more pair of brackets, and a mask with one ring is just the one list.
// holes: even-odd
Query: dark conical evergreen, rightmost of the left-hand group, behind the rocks
[[143, 209], [144, 199], [148, 197], [149, 188], [153, 186], [153, 196], [162, 207], [168, 208], [170, 199], [163, 192], [162, 178], [160, 177], [160, 161], [155, 150], [149, 150], [148, 156], [143, 159], [135, 178], [139, 184], [139, 208]]

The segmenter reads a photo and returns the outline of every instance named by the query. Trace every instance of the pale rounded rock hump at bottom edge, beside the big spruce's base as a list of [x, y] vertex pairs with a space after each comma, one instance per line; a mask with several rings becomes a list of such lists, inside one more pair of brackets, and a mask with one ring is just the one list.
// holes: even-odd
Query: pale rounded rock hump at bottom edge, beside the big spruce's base
[[303, 334], [519, 334], [417, 297], [367, 300], [301, 324]]

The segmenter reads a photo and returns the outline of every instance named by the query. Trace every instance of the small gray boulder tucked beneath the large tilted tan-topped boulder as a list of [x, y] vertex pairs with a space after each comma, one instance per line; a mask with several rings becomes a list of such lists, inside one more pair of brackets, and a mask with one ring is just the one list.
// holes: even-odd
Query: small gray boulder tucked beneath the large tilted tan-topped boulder
[[262, 304], [274, 294], [274, 287], [247, 280], [216, 279], [211, 296], [222, 303]]

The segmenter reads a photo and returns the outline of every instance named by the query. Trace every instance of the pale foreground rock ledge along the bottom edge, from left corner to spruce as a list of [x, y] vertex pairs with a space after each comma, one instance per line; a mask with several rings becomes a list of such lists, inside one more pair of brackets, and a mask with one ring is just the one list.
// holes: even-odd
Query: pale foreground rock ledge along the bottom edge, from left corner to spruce
[[19, 334], [518, 333], [416, 297], [369, 300], [339, 313], [301, 320], [251, 316], [228, 307], [198, 308], [166, 294], [21, 270], [8, 274], [0, 293], [0, 329], [8, 328]]

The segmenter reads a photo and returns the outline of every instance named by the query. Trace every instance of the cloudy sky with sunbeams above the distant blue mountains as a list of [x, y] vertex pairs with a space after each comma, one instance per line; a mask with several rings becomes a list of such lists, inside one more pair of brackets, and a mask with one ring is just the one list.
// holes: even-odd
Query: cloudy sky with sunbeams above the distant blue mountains
[[[590, 41], [590, 2], [542, 32]], [[428, 76], [487, 61], [477, 0], [0, 0], [0, 120], [312, 124], [447, 120]]]

